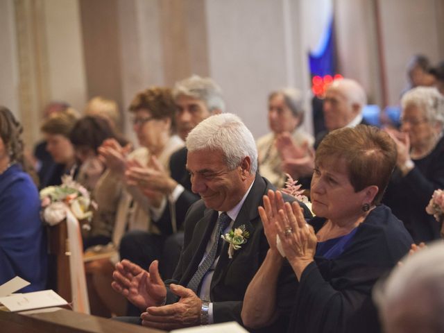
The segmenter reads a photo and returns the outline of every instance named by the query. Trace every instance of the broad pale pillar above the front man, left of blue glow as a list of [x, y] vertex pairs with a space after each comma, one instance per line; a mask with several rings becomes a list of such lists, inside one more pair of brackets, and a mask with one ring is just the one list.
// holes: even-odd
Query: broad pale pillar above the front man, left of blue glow
[[269, 131], [271, 91], [286, 86], [309, 89], [309, 47], [298, 39], [300, 3], [208, 0], [206, 4], [210, 74], [223, 88], [228, 112], [239, 114], [257, 138]]

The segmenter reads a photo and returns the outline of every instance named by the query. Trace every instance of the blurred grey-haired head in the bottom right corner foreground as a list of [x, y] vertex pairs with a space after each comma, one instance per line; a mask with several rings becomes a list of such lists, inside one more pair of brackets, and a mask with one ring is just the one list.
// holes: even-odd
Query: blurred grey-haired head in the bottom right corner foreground
[[444, 332], [444, 243], [437, 241], [413, 253], [373, 298], [386, 333]]

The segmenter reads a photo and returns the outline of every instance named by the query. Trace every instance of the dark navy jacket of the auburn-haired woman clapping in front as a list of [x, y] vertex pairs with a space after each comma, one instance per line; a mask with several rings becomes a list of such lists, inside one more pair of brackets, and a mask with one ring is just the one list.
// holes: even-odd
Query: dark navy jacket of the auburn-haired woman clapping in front
[[[325, 219], [309, 221], [315, 232]], [[295, 304], [289, 333], [380, 332], [371, 299], [375, 282], [409, 252], [412, 239], [391, 210], [379, 205], [368, 214], [343, 253], [327, 259], [316, 255], [293, 280], [287, 297]]]

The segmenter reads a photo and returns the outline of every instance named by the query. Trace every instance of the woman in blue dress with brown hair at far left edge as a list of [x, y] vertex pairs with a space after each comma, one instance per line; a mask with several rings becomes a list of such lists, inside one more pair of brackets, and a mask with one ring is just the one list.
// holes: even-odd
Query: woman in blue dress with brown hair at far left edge
[[22, 291], [37, 291], [46, 285], [46, 241], [37, 187], [22, 169], [21, 134], [20, 123], [0, 107], [0, 284], [18, 275], [31, 282]]

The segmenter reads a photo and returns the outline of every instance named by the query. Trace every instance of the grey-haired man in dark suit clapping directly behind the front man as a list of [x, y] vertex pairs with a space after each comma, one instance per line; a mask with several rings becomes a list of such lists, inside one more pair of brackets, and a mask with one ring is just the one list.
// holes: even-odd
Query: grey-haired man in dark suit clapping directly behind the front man
[[[211, 78], [194, 75], [178, 81], [173, 88], [173, 99], [176, 103], [176, 129], [184, 141], [188, 133], [200, 121], [225, 110], [221, 88]], [[186, 147], [180, 148], [171, 155], [169, 173], [162, 168], [160, 163], [153, 162], [152, 164], [157, 167], [136, 167], [131, 169], [127, 176], [137, 182], [142, 191], [148, 193], [159, 191], [164, 195], [160, 208], [154, 214], [157, 218], [153, 220], [159, 228], [165, 230], [165, 233], [175, 232], [164, 243], [160, 268], [164, 277], [171, 278], [183, 245], [183, 232], [176, 231], [181, 229], [187, 210], [199, 199], [199, 196], [191, 191], [189, 172], [186, 169]], [[172, 224], [176, 225], [176, 230], [171, 230]], [[120, 244], [121, 258], [129, 259], [139, 266], [148, 267], [151, 262], [146, 262], [144, 251], [139, 250], [146, 243], [146, 238], [146, 232], [141, 230], [127, 233]], [[136, 312], [129, 307], [128, 314], [135, 315]]]

